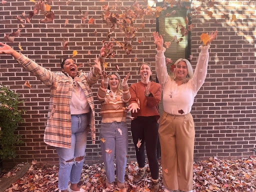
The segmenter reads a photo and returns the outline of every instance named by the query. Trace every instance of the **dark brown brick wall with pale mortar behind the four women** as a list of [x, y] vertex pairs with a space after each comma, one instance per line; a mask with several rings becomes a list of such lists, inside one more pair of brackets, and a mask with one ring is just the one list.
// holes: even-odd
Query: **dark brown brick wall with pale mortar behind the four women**
[[[46, 1], [45, 1], [46, 2]], [[139, 4], [146, 5], [143, 0]], [[202, 32], [218, 30], [217, 39], [211, 43], [208, 74], [205, 83], [198, 91], [192, 107], [195, 121], [195, 150], [194, 160], [208, 158], [212, 155], [219, 158], [239, 158], [253, 155], [256, 143], [256, 117], [255, 117], [255, 1], [249, 0], [215, 0], [217, 4], [209, 10], [213, 12], [212, 18], [201, 12], [192, 17], [194, 28], [191, 32], [192, 65], [196, 64], [198, 57], [199, 35]], [[78, 54], [74, 57], [77, 63], [83, 63], [84, 70], [90, 70], [93, 59], [99, 53], [102, 40], [108, 41], [109, 26], [102, 22], [101, 6], [109, 4], [111, 7], [117, 3], [121, 7], [131, 6], [133, 0], [105, 1], [99, 0], [52, 0], [51, 10], [55, 14], [53, 22], [40, 23], [43, 14], [33, 16], [30, 23], [21, 23], [15, 17], [22, 13], [28, 15], [33, 10], [34, 3], [29, 0], [7, 0], [0, 5], [0, 41], [3, 34], [21, 29], [20, 36], [14, 42], [8, 42], [14, 49], [19, 50], [18, 44], [23, 48], [21, 53], [35, 60], [38, 64], [52, 71], [60, 69], [60, 58], [72, 55], [73, 50]], [[202, 3], [194, 0], [194, 4]], [[197, 4], [199, 5], [199, 4]], [[203, 4], [202, 4], [203, 5]], [[88, 18], [95, 19], [95, 24], [85, 24], [81, 20], [81, 11], [88, 11]], [[229, 19], [221, 18], [222, 14], [229, 14]], [[230, 22], [231, 15], [235, 14], [236, 21]], [[65, 25], [65, 20], [68, 23]], [[153, 23], [151, 20], [153, 19]], [[139, 75], [137, 66], [141, 62], [154, 65], [155, 45], [152, 31], [156, 28], [155, 16], [145, 16], [144, 28], [142, 21], [137, 19], [135, 25], [139, 31], [133, 39], [133, 49], [130, 55], [121, 50], [115, 43], [115, 57], [106, 59], [108, 69], [116, 70], [118, 64], [119, 74], [123, 77], [131, 73], [128, 83], [137, 82]], [[21, 26], [24, 25], [24, 27]], [[97, 31], [95, 35], [94, 31]], [[122, 42], [123, 32], [118, 28], [110, 37]], [[68, 49], [63, 50], [63, 39], [68, 40]], [[138, 43], [137, 40], [142, 40]], [[170, 46], [171, 48], [171, 46]], [[90, 50], [90, 54], [88, 51]], [[135, 59], [136, 58], [136, 59]], [[32, 85], [24, 86], [25, 80]], [[17, 134], [22, 135], [23, 144], [17, 146], [17, 157], [6, 160], [5, 164], [36, 159], [42, 164], [55, 164], [58, 158], [54, 147], [43, 142], [43, 132], [46, 123], [49, 89], [36, 77], [21, 68], [11, 56], [0, 55], [0, 84], [9, 85], [24, 99], [26, 110]], [[92, 88], [96, 96], [99, 81]], [[99, 127], [100, 103], [95, 99], [96, 108], [96, 143], [91, 144], [87, 139], [86, 163], [101, 162]], [[128, 123], [130, 123], [128, 121]], [[129, 129], [130, 130], [130, 129]], [[129, 131], [128, 161], [135, 159], [135, 151]]]

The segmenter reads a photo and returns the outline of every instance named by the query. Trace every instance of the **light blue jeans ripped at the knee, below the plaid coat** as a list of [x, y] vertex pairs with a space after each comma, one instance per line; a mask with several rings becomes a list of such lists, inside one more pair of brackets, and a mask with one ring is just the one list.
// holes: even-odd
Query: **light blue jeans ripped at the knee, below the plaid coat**
[[[87, 114], [71, 115], [71, 148], [56, 147], [59, 157], [58, 188], [60, 190], [67, 189], [69, 180], [72, 184], [80, 180], [87, 141], [87, 122]], [[81, 156], [82, 160], [75, 160], [76, 157]]]

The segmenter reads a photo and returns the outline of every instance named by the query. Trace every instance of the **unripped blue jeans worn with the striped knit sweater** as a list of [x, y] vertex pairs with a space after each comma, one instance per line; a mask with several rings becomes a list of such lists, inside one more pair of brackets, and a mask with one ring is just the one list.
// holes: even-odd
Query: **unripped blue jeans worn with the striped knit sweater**
[[114, 179], [114, 155], [116, 158], [116, 177], [119, 182], [124, 182], [126, 155], [128, 148], [128, 130], [126, 122], [101, 123], [99, 138], [101, 153], [104, 160], [106, 179]]

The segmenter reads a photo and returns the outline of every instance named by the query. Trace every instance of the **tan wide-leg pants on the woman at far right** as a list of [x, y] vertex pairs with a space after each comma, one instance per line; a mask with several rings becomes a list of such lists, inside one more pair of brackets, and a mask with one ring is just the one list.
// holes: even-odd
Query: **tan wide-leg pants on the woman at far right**
[[163, 112], [158, 133], [164, 187], [169, 190], [192, 190], [195, 134], [192, 115]]

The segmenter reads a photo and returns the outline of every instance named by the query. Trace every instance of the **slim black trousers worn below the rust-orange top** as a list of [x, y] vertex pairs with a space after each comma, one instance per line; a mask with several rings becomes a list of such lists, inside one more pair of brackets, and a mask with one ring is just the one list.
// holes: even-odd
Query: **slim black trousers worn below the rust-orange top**
[[[156, 158], [158, 126], [155, 116], [138, 116], [131, 121], [131, 134], [136, 149], [139, 167], [145, 166], [145, 148], [152, 179], [158, 178], [159, 166]], [[141, 145], [138, 148], [138, 139]]]

